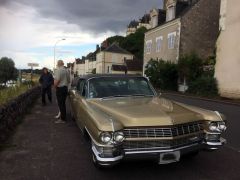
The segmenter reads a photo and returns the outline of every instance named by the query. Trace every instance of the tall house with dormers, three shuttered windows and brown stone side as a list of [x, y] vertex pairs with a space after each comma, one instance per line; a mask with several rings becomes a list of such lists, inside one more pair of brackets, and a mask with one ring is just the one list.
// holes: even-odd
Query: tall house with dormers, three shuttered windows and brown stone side
[[[144, 67], [151, 59], [174, 63], [191, 52], [211, 56], [219, 32], [219, 0], [165, 0], [152, 10], [154, 27], [145, 33]], [[163, 21], [164, 19], [164, 21]]]

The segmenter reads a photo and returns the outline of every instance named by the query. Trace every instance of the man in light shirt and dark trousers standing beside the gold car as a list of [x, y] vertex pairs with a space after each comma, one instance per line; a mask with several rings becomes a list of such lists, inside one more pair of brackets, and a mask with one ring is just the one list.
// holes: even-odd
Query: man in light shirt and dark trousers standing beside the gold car
[[57, 70], [55, 72], [54, 87], [56, 88], [56, 96], [58, 107], [61, 113], [61, 118], [55, 123], [66, 122], [66, 99], [68, 94], [68, 84], [70, 83], [70, 75], [67, 69], [64, 68], [62, 60], [57, 62]]

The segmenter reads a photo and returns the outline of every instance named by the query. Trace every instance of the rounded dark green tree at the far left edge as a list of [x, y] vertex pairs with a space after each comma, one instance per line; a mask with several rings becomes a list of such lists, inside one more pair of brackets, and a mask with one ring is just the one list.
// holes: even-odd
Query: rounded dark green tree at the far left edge
[[8, 57], [2, 57], [0, 59], [0, 83], [6, 84], [9, 80], [16, 80], [17, 74], [14, 61]]

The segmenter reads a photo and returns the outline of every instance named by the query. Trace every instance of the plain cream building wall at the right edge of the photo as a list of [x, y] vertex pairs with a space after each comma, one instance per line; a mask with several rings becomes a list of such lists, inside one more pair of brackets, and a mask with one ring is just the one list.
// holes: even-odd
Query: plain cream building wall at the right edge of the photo
[[223, 97], [240, 98], [240, 1], [221, 1], [215, 77]]

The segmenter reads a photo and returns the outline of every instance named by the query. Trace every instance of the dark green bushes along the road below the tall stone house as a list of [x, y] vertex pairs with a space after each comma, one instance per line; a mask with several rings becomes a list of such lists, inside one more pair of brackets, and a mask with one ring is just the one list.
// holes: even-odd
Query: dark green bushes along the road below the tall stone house
[[218, 84], [214, 78], [214, 57], [202, 60], [194, 52], [180, 57], [178, 64], [164, 60], [150, 60], [145, 74], [156, 88], [163, 90], [178, 89], [178, 80], [185, 79], [188, 93], [200, 96], [218, 96]]

